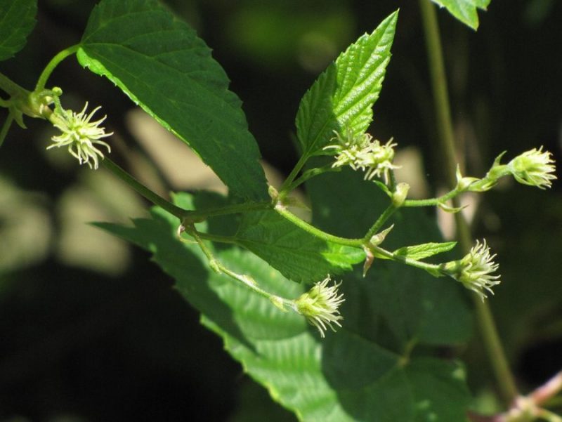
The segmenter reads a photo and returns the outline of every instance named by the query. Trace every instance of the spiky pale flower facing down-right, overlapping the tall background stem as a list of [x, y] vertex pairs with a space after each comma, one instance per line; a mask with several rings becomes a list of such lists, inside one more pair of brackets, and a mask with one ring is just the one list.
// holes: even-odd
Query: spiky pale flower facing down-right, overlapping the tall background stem
[[492, 287], [499, 284], [499, 275], [492, 275], [499, 268], [493, 259], [495, 255], [490, 253], [490, 247], [484, 240], [482, 243], [476, 241], [469, 253], [459, 261], [446, 263], [443, 270], [447, 275], [461, 282], [466, 289], [475, 291], [482, 301], [487, 297], [485, 290], [494, 294]]

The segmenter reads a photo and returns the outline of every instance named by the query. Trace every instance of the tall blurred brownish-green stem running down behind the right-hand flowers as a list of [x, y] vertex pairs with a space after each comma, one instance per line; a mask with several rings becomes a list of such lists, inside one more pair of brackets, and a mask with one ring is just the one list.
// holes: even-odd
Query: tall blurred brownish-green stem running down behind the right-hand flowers
[[[433, 87], [433, 103], [438, 124], [439, 146], [445, 154], [447, 184], [452, 188], [456, 184], [455, 166], [457, 159], [455, 157], [455, 139], [452, 130], [447, 79], [445, 78], [445, 65], [443, 64], [443, 51], [437, 24], [437, 14], [435, 6], [429, 0], [419, 0], [419, 7], [426, 37], [429, 72]], [[456, 198], [453, 199], [453, 202], [453, 206], [459, 206]], [[457, 223], [457, 239], [463, 253], [468, 253], [472, 244], [469, 226], [466, 220], [464, 220], [462, 213], [456, 213], [455, 219]], [[488, 352], [488, 358], [494, 369], [502, 397], [506, 404], [509, 405], [517, 397], [518, 392], [502, 343], [499, 341], [492, 312], [490, 312], [488, 303], [483, 303], [476, 294], [473, 294], [473, 302], [476, 308], [478, 326]]]

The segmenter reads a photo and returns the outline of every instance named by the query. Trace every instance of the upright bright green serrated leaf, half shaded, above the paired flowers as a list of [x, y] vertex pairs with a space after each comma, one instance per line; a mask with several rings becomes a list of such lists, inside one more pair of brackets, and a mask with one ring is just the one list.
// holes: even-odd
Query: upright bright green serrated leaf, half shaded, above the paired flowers
[[397, 19], [394, 12], [372, 34], [362, 35], [303, 96], [296, 135], [304, 156], [318, 153], [334, 131], [348, 128], [358, 135], [367, 130], [391, 58]]

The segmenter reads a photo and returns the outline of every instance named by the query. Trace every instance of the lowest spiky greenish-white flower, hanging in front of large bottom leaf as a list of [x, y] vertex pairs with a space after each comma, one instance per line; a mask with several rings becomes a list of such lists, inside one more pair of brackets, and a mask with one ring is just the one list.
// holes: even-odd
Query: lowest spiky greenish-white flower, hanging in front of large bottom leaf
[[330, 277], [328, 276], [293, 301], [294, 310], [306, 317], [308, 322], [320, 331], [322, 337], [325, 336], [327, 327], [336, 331], [333, 324], [341, 327], [339, 321], [344, 319], [339, 315], [338, 310], [339, 305], [345, 301], [344, 295], [338, 295], [338, 287], [341, 282], [328, 286], [329, 282]]

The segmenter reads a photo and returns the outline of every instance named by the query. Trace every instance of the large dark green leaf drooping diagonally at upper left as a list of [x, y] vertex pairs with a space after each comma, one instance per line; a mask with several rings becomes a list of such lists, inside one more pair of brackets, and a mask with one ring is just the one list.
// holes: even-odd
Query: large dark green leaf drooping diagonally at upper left
[[259, 150], [228, 77], [195, 31], [157, 0], [102, 0], [77, 58], [188, 143], [230, 192], [268, 199]]

